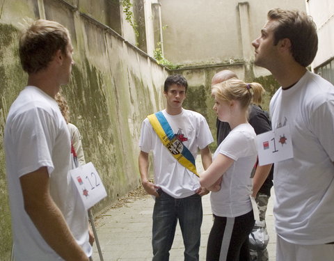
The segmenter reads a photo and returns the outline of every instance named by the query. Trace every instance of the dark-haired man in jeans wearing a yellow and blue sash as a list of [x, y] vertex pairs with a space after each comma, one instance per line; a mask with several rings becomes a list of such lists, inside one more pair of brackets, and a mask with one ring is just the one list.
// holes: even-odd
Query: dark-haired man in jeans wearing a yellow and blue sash
[[[166, 109], [148, 116], [141, 128], [139, 171], [145, 191], [155, 196], [152, 248], [156, 261], [169, 260], [177, 220], [184, 240], [184, 260], [199, 260], [201, 196], [209, 191], [200, 187], [194, 159], [199, 148], [203, 167], [206, 169], [212, 163], [208, 145], [213, 138], [200, 113], [182, 108], [187, 87], [182, 75], [167, 77], [164, 84]], [[163, 134], [159, 134], [159, 129]], [[154, 183], [148, 179], [151, 150]]]

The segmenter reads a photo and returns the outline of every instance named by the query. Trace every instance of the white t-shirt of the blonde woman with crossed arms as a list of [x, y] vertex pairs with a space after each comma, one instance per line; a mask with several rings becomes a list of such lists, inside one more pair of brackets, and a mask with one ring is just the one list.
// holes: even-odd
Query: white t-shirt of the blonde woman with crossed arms
[[257, 159], [256, 134], [249, 123], [234, 127], [214, 152], [234, 160], [223, 174], [221, 189], [211, 193], [212, 212], [216, 216], [236, 217], [252, 210], [251, 173]]

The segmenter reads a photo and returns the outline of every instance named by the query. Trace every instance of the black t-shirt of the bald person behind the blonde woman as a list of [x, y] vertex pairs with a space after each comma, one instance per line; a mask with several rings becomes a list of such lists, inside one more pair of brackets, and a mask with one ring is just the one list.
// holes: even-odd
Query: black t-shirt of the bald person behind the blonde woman
[[[259, 106], [254, 104], [250, 105], [250, 113], [249, 113], [249, 124], [255, 130], [255, 133], [262, 134], [264, 132], [269, 132], [271, 130], [271, 122], [269, 117], [266, 115], [264, 111]], [[231, 131], [230, 125], [228, 122], [221, 122], [220, 120], [216, 121], [217, 127], [217, 145], [221, 144], [221, 142], [228, 136]], [[264, 184], [260, 188], [259, 192], [270, 196], [270, 189], [273, 187], [273, 166], [269, 172], [267, 180], [264, 181]]]

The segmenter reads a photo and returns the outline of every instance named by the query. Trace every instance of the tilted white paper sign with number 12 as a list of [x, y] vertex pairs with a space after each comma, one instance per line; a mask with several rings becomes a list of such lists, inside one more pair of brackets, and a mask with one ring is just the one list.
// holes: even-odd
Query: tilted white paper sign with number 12
[[93, 163], [72, 169], [70, 175], [86, 209], [106, 197], [106, 189]]

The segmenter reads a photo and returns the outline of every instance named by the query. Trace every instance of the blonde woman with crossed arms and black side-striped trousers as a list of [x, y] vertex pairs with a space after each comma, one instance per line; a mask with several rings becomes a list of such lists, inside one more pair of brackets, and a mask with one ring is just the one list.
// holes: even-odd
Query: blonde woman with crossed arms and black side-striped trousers
[[207, 261], [250, 260], [248, 235], [255, 219], [250, 200], [251, 173], [257, 159], [256, 134], [247, 121], [248, 106], [260, 84], [238, 79], [212, 86], [218, 119], [231, 132], [214, 152], [212, 164], [200, 175], [201, 186], [212, 191], [214, 225], [207, 243]]

